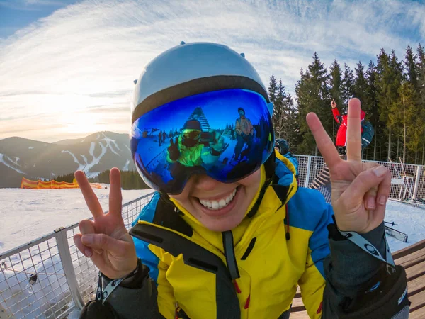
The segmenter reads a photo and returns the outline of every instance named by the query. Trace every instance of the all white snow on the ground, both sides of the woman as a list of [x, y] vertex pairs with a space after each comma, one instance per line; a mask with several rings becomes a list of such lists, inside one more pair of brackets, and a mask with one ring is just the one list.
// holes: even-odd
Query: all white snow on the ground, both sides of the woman
[[[104, 189], [104, 186], [108, 185], [103, 185], [103, 189], [94, 189], [94, 192], [103, 209], [107, 210], [109, 187]], [[123, 191], [123, 203], [150, 192], [152, 192], [151, 189]], [[0, 253], [51, 233], [55, 228], [72, 225], [89, 217], [91, 213], [79, 189], [0, 189]], [[387, 237], [392, 252], [425, 239], [424, 205], [417, 208], [405, 203], [388, 201], [385, 220], [398, 224], [392, 228], [409, 235], [407, 243]], [[45, 243], [39, 245], [41, 252], [38, 251], [37, 246], [31, 248], [31, 259], [35, 267], [30, 268], [31, 259], [26, 259], [29, 258], [26, 250], [20, 255], [15, 255], [15, 258], [21, 257], [24, 260], [13, 266], [14, 271], [5, 269], [4, 265], [0, 264], [3, 268], [0, 271], [0, 291], [4, 291], [2, 295], [4, 298], [11, 298], [9, 299], [11, 304], [16, 303], [12, 309], [8, 310], [16, 313], [14, 318], [45, 318], [52, 314], [50, 308], [54, 311], [60, 308], [71, 309], [72, 312], [67, 318], [79, 318], [79, 310], [74, 308], [72, 298], [69, 296], [60, 257], [55, 251], [54, 239], [50, 241], [52, 241], [50, 253]], [[46, 251], [42, 252], [45, 249]], [[78, 263], [78, 260], [74, 262]], [[23, 267], [26, 267], [26, 272], [23, 272]], [[87, 267], [92, 266], [89, 262], [76, 264], [74, 267], [81, 267], [81, 274], [77, 274], [77, 279], [80, 279], [80, 276], [90, 271]], [[38, 281], [30, 286], [28, 278], [33, 273], [38, 274]], [[11, 291], [8, 287], [11, 287]], [[96, 278], [85, 279], [80, 289], [94, 291]]]

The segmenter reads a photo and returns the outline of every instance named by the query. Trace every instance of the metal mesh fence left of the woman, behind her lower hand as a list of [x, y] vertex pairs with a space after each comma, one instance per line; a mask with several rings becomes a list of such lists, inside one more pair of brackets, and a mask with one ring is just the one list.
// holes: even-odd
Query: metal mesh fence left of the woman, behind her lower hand
[[[123, 205], [126, 228], [152, 194]], [[0, 254], [0, 319], [67, 318], [96, 291], [98, 270], [74, 245], [78, 223]]]

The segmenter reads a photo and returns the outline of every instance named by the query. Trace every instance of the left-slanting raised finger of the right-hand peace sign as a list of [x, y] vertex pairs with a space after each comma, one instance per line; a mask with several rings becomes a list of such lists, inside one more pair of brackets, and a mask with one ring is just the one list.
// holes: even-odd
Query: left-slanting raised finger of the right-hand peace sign
[[307, 124], [313, 133], [314, 140], [316, 140], [317, 147], [319, 147], [319, 150], [324, 157], [324, 161], [331, 171], [332, 167], [341, 161], [338, 151], [334, 146], [334, 142], [332, 142], [329, 135], [327, 135], [326, 130], [324, 130], [322, 123], [315, 113], [308, 113], [306, 119]]

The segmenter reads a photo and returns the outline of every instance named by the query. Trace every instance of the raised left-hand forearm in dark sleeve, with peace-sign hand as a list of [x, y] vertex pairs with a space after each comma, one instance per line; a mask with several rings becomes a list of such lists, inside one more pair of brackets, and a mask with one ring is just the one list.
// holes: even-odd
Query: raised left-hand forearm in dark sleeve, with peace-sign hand
[[96, 300], [86, 304], [80, 318], [164, 318], [157, 306], [156, 283], [149, 277], [149, 268], [137, 259], [121, 216], [119, 169], [111, 169], [106, 214], [84, 172], [76, 172], [75, 177], [94, 220], [81, 220], [81, 233], [74, 235], [74, 242], [101, 272]]

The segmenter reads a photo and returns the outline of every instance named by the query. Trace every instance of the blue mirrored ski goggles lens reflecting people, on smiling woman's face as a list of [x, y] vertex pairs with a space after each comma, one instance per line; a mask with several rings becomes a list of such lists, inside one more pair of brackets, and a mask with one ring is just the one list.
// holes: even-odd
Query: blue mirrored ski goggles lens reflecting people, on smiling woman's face
[[194, 174], [233, 183], [271, 155], [273, 126], [266, 99], [228, 89], [154, 108], [132, 125], [131, 152], [146, 184], [180, 194]]

